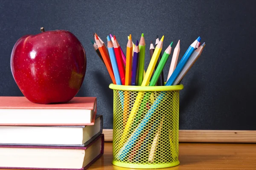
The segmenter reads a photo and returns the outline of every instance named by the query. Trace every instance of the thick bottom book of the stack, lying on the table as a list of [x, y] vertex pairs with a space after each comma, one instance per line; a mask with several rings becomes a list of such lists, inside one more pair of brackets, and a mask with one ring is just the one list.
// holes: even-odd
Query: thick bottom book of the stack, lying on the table
[[85, 147], [0, 145], [0, 168], [84, 170], [103, 153], [104, 134]]

